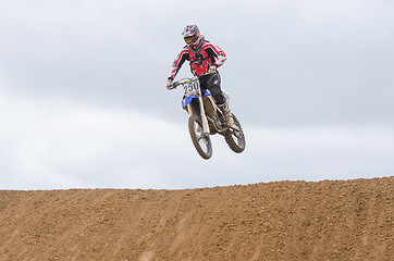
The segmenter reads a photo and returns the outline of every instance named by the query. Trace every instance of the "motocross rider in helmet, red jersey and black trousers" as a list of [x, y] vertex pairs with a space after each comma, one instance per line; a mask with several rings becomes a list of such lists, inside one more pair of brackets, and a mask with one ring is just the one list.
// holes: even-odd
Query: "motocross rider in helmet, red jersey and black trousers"
[[168, 77], [167, 88], [173, 88], [173, 79], [180, 71], [183, 63], [187, 60], [190, 64], [190, 71], [196, 75], [200, 82], [202, 89], [209, 89], [217, 104], [223, 112], [225, 123], [230, 127], [233, 125], [234, 120], [229, 109], [229, 102], [220, 88], [220, 75], [218, 67], [223, 65], [226, 60], [225, 53], [218, 46], [210, 44], [200, 35], [197, 25], [187, 25], [182, 36], [186, 46], [177, 54], [172, 64], [171, 74]]

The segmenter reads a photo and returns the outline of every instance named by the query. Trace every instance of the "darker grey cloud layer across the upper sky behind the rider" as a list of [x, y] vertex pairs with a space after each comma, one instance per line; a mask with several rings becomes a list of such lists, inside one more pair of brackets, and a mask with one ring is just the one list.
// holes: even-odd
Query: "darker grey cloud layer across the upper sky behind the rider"
[[[234, 105], [269, 112], [244, 113], [244, 121], [391, 124], [390, 2], [206, 3], [218, 12], [205, 12], [206, 4], [183, 12], [188, 3], [176, 1], [4, 2], [0, 70], [12, 86], [3, 88], [163, 116], [145, 101], [168, 104], [165, 78], [184, 45], [182, 28], [197, 23], [227, 53], [220, 72]], [[189, 75], [187, 64], [182, 75]]]

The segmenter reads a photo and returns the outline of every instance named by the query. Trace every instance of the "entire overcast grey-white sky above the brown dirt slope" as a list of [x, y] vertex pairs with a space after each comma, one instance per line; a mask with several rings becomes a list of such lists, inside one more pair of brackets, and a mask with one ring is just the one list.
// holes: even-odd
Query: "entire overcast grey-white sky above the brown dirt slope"
[[[226, 52], [242, 154], [202, 160], [165, 88], [187, 24]], [[391, 0], [0, 0], [0, 189], [392, 176], [393, 87]]]

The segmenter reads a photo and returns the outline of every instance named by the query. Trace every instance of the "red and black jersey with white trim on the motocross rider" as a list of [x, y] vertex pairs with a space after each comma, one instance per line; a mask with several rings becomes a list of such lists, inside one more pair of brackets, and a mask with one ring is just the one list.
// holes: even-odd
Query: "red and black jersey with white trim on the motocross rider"
[[225, 59], [224, 51], [207, 40], [202, 41], [200, 51], [195, 51], [189, 46], [185, 46], [172, 64], [169, 78], [175, 78], [185, 61], [189, 61], [190, 71], [194, 75], [201, 76], [205, 75], [212, 65], [220, 67], [224, 63]]

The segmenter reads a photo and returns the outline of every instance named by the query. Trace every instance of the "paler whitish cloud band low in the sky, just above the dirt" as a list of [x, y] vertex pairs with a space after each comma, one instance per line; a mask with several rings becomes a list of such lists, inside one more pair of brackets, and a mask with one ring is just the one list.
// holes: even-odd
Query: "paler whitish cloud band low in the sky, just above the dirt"
[[387, 126], [246, 124], [244, 153], [233, 153], [217, 135], [213, 157], [204, 161], [189, 140], [186, 114], [180, 124], [131, 110], [1, 97], [2, 188], [194, 188], [393, 171], [394, 132]]

